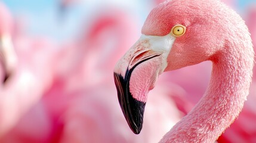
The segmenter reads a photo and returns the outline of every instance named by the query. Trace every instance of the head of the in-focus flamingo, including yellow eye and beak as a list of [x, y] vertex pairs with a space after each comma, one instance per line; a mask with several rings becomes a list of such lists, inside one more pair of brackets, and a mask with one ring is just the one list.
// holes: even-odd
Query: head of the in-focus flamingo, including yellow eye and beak
[[214, 61], [223, 51], [232, 33], [227, 13], [223, 3], [210, 0], [165, 1], [150, 12], [140, 39], [114, 70], [119, 104], [134, 133], [140, 133], [147, 94], [159, 74]]

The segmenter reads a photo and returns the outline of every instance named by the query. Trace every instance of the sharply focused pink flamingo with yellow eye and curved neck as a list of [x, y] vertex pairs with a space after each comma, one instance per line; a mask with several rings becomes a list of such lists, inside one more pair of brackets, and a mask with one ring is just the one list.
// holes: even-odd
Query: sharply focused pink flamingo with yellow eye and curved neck
[[212, 61], [206, 93], [161, 142], [214, 142], [236, 119], [249, 92], [254, 51], [248, 28], [220, 1], [166, 1], [118, 61], [115, 84], [129, 127], [140, 133], [147, 94], [163, 71]]

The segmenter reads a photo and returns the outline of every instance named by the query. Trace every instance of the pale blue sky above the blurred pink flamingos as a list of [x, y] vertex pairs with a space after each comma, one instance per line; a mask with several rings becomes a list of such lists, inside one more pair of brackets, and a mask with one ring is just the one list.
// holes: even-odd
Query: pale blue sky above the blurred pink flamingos
[[[141, 24], [148, 11], [150, 11], [149, 1], [118, 1], [118, 0], [95, 0], [85, 1], [82, 5], [71, 8], [63, 21], [60, 22], [58, 13], [59, 0], [2, 0], [12, 11], [15, 17], [26, 17], [26, 30], [32, 35], [47, 35], [50, 38], [66, 39], [77, 35], [85, 18], [93, 15], [96, 9], [100, 10], [99, 5], [114, 4], [117, 7], [129, 8], [131, 13], [141, 13]], [[246, 5], [256, 3], [256, 0], [237, 0], [236, 7], [238, 13], [242, 14]], [[104, 3], [104, 4], [103, 4]], [[145, 7], [147, 5], [148, 7]], [[146, 9], [146, 10], [145, 10]], [[84, 23], [83, 23], [84, 24]]]

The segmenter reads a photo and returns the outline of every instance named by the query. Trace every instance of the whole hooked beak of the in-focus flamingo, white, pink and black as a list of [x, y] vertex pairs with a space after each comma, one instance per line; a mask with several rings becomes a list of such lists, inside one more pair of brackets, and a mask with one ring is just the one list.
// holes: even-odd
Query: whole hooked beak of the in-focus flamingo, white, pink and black
[[166, 58], [174, 40], [171, 35], [142, 35], [115, 66], [119, 104], [129, 128], [136, 134], [143, 126], [147, 94], [165, 70]]

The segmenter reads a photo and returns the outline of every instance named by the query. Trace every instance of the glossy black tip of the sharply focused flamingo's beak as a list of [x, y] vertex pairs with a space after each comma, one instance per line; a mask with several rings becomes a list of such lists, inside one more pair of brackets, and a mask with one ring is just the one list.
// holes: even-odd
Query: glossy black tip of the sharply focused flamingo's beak
[[118, 101], [129, 128], [135, 134], [139, 134], [143, 125], [146, 102], [138, 101], [132, 97], [129, 92], [129, 76], [124, 78], [120, 74], [114, 73], [114, 79], [116, 90], [118, 91]]

